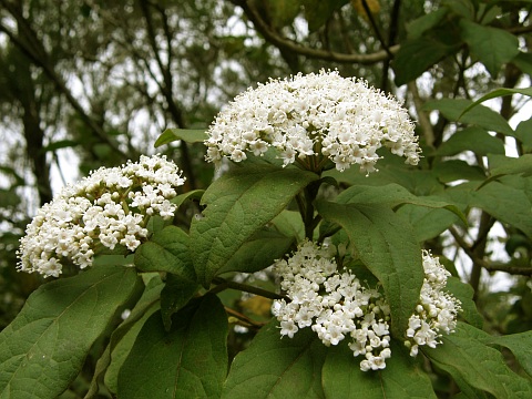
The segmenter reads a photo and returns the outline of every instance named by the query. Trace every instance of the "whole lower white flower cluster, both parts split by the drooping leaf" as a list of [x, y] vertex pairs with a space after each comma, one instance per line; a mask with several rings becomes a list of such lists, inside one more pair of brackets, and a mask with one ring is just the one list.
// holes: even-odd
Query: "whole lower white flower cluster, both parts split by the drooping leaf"
[[[360, 361], [362, 371], [383, 369], [391, 356], [390, 307], [377, 289], [362, 287], [349, 270], [340, 274], [334, 250], [334, 246], [319, 247], [305, 241], [293, 256], [274, 265], [273, 270], [282, 278], [280, 286], [290, 299], [273, 304], [280, 335], [293, 338], [300, 328], [311, 327], [326, 346], [350, 338], [354, 356], [365, 357]], [[460, 309], [458, 299], [441, 290], [447, 270], [438, 259], [423, 252], [423, 265], [426, 279], [420, 305], [407, 331], [407, 337], [415, 341], [407, 341], [412, 356], [419, 345], [436, 345], [440, 330], [451, 332]]]

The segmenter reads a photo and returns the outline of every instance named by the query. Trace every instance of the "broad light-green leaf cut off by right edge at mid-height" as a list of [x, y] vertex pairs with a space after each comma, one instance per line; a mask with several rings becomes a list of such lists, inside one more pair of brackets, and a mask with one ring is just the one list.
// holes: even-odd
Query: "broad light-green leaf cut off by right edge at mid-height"
[[470, 193], [470, 205], [488, 212], [532, 237], [532, 203], [522, 190], [491, 182]]

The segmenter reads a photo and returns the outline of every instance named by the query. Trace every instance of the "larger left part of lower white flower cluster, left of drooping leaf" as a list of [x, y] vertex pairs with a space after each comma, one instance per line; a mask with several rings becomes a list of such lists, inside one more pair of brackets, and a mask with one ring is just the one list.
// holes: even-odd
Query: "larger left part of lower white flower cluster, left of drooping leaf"
[[329, 249], [308, 241], [288, 260], [278, 260], [274, 272], [291, 299], [273, 305], [282, 336], [291, 338], [299, 328], [311, 327], [326, 346], [350, 337], [354, 355], [365, 356], [361, 370], [386, 367], [390, 307], [377, 289], [362, 287], [349, 272], [339, 274]]

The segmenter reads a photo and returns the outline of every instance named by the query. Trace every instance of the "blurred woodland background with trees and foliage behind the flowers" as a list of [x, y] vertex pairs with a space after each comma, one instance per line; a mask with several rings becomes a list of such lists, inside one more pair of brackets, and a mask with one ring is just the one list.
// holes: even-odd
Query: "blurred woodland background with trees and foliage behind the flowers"
[[[341, 188], [396, 183], [459, 204], [468, 226], [446, 209], [405, 204], [397, 212], [471, 285], [484, 329], [530, 330], [532, 141], [522, 95], [530, 93], [514, 90], [530, 85], [530, 7], [524, 0], [0, 0], [2, 326], [42, 283], [13, 270], [18, 238], [54, 194], [52, 174], [71, 180], [163, 151], [187, 176], [186, 191], [204, 188], [213, 177], [204, 149], [176, 141], [155, 150], [158, 135], [205, 129], [237, 93], [269, 76], [325, 68], [405, 99], [424, 156], [408, 180], [395, 163], [371, 178], [330, 175]], [[493, 90], [500, 98], [491, 109], [466, 112]], [[501, 279], [509, 290], [492, 288]], [[227, 301], [260, 314], [239, 297]], [[243, 335], [231, 340], [235, 352], [247, 344]], [[440, 393], [454, 388], [444, 385]]]

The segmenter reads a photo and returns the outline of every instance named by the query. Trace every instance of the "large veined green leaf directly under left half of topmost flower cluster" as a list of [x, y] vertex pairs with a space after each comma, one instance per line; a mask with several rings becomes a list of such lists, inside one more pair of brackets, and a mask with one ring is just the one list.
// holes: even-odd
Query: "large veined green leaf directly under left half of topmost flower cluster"
[[318, 175], [296, 167], [238, 167], [205, 192], [203, 217], [191, 225], [191, 250], [200, 283], [229, 272], [239, 248], [278, 215]]

